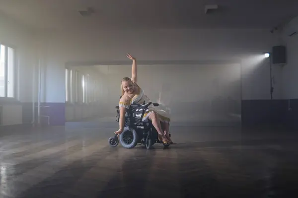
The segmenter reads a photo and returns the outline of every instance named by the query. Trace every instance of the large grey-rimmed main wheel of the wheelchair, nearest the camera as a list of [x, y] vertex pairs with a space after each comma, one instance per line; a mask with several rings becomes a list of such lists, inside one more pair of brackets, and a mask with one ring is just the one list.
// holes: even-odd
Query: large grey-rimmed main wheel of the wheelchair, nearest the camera
[[123, 132], [119, 136], [119, 142], [124, 148], [134, 148], [138, 144], [138, 134], [134, 128], [124, 127]]

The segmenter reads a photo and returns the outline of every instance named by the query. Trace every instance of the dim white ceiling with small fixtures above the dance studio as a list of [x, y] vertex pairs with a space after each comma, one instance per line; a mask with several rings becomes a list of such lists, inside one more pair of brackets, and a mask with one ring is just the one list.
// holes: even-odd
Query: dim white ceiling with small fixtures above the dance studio
[[298, 0], [0, 0], [0, 13], [37, 30], [273, 28], [298, 15]]

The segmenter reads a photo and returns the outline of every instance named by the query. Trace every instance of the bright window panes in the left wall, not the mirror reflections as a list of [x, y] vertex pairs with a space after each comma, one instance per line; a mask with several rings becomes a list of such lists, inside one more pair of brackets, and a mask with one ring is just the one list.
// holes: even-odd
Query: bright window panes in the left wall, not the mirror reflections
[[0, 97], [14, 98], [15, 49], [0, 45]]

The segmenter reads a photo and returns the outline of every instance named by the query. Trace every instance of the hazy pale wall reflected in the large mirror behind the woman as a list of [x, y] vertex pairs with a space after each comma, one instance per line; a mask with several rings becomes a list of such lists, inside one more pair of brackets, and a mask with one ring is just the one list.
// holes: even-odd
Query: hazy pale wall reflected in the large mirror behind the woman
[[[173, 122], [214, 125], [240, 121], [229, 116], [240, 114], [241, 109], [239, 64], [139, 64], [138, 73], [138, 84], [149, 99], [158, 102], [160, 97], [159, 103], [172, 109]], [[121, 79], [130, 76], [131, 65], [109, 66], [106, 116], [115, 116]]]

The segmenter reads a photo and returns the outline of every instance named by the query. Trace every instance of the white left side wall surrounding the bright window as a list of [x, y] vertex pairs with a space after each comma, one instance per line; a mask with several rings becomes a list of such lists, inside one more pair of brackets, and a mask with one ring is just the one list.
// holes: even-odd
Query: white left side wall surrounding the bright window
[[[12, 45], [17, 49], [18, 62], [16, 65], [16, 100], [31, 102], [32, 100], [32, 65], [33, 65], [33, 39], [29, 29], [15, 21], [0, 15], [0, 42]], [[3, 98], [2, 98], [3, 99]], [[0, 99], [1, 100], [1, 99]], [[2, 125], [22, 123], [22, 104], [7, 104], [2, 101]]]

